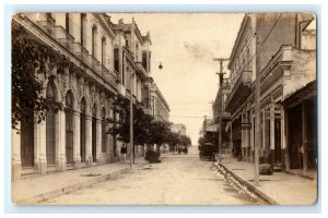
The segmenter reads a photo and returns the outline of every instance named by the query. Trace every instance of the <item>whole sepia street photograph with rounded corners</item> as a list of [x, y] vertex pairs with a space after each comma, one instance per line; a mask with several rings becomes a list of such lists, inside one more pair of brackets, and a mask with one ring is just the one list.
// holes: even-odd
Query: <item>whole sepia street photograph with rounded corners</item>
[[315, 13], [16, 12], [11, 202], [316, 205], [317, 105]]

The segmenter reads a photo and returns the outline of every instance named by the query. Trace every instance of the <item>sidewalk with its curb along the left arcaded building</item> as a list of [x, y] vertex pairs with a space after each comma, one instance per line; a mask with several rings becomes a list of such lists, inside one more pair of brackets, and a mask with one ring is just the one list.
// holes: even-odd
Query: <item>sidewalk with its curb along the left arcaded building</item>
[[115, 179], [144, 165], [148, 165], [148, 161], [140, 157], [136, 158], [132, 168], [127, 160], [19, 180], [11, 183], [12, 202], [19, 205], [35, 204], [97, 182]]

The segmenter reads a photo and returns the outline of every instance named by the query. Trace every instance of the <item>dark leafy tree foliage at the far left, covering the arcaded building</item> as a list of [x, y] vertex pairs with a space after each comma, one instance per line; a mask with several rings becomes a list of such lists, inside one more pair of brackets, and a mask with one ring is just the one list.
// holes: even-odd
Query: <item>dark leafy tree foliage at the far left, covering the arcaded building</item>
[[[60, 57], [56, 56], [50, 47], [47, 47], [32, 36], [14, 21], [12, 22], [12, 129], [17, 130], [19, 122], [42, 122], [46, 112], [54, 108], [62, 109], [62, 104], [55, 98], [42, 96], [44, 89], [42, 81], [37, 75], [47, 77], [47, 72], [55, 64], [67, 64]], [[57, 73], [60, 73], [58, 70]], [[33, 116], [34, 114], [34, 116]]]

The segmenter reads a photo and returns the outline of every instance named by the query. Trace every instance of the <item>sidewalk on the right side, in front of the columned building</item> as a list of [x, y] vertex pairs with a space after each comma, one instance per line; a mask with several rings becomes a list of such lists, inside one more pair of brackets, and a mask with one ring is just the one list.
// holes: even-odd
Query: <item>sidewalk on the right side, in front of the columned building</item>
[[237, 161], [230, 155], [223, 156], [222, 166], [253, 192], [269, 204], [312, 205], [317, 198], [317, 179], [309, 179], [285, 172], [259, 175], [260, 185], [254, 182], [254, 164]]

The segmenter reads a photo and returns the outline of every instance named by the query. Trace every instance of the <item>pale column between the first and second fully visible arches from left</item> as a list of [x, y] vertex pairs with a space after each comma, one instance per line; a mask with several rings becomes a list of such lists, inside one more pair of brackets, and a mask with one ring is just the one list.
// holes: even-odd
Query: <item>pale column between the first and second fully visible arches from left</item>
[[58, 167], [60, 171], [65, 171], [67, 168], [66, 159], [66, 114], [63, 110], [58, 111], [58, 125], [56, 125], [58, 133]]

